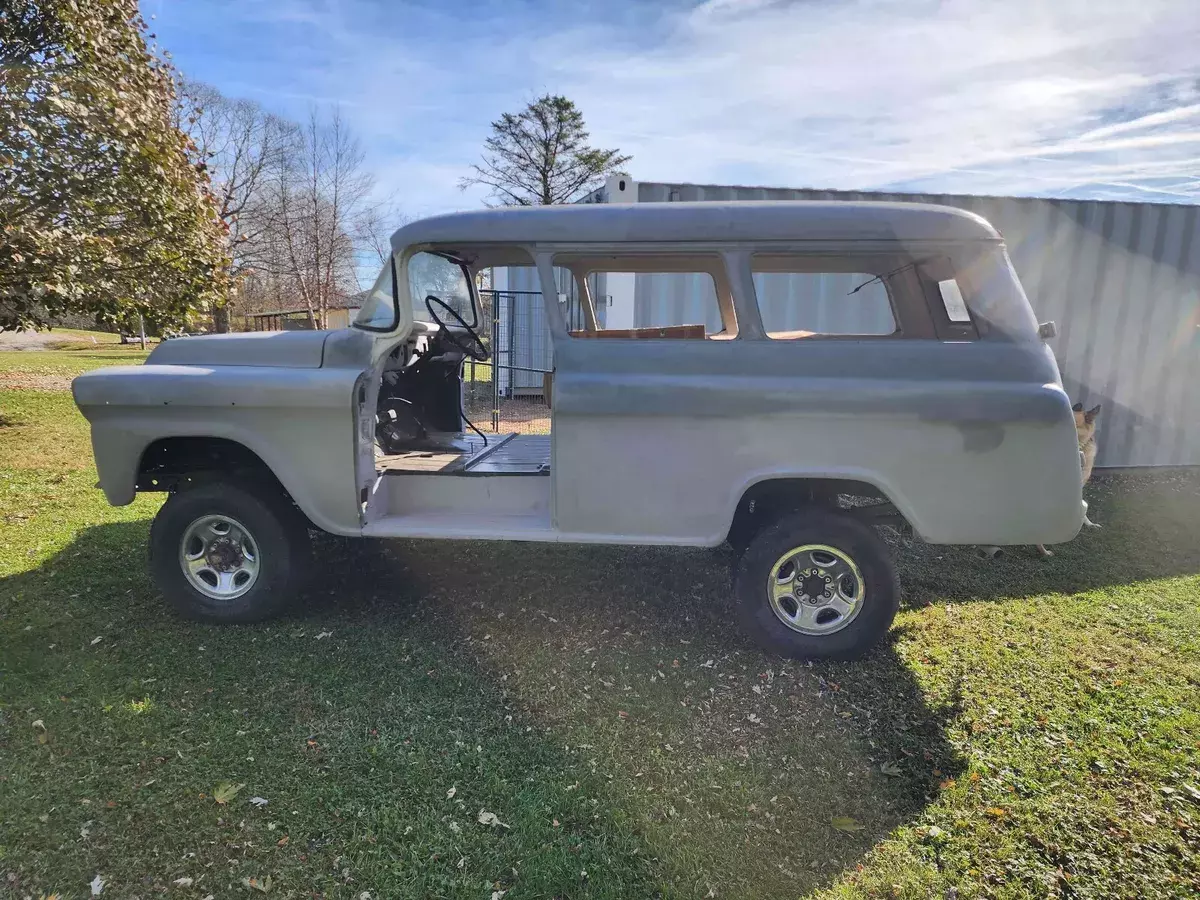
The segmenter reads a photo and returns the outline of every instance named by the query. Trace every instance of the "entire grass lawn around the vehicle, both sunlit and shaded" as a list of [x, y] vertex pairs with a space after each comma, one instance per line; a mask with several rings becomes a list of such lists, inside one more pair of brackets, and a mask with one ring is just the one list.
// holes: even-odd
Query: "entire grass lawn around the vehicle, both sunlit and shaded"
[[1200, 476], [1049, 560], [898, 540], [888, 644], [806, 665], [725, 551], [323, 539], [287, 618], [182, 623], [70, 395], [0, 416], [0, 896], [1200, 892]]

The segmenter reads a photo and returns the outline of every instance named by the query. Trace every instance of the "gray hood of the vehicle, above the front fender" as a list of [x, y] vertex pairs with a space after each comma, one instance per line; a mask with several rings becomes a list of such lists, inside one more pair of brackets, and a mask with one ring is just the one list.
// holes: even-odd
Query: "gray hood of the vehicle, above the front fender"
[[331, 331], [247, 331], [163, 341], [148, 366], [270, 366], [320, 368]]

